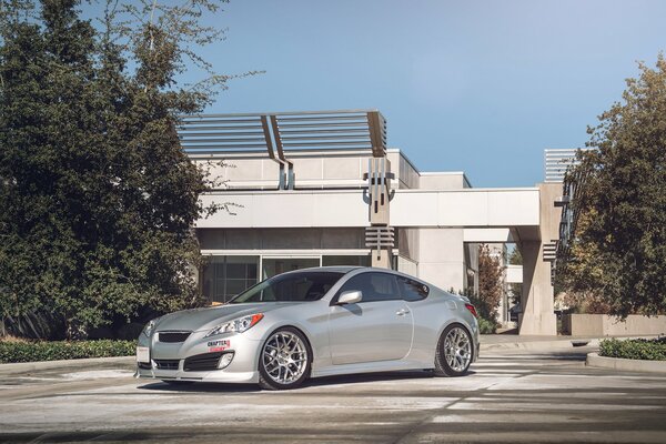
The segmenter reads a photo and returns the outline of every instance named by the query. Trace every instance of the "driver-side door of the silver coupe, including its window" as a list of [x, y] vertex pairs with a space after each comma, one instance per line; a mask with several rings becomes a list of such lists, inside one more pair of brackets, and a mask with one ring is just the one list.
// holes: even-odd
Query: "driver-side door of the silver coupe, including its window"
[[[361, 291], [361, 302], [337, 305], [337, 297], [346, 291]], [[332, 300], [331, 360], [333, 364], [400, 360], [410, 352], [413, 330], [412, 312], [401, 297], [395, 275], [357, 274]]]

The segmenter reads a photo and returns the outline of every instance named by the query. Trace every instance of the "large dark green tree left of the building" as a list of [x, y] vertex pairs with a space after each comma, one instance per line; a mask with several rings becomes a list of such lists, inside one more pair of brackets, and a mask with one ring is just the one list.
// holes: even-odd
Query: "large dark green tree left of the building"
[[191, 228], [215, 209], [175, 128], [229, 79], [176, 82], [186, 60], [210, 71], [193, 48], [219, 37], [199, 24], [214, 2], [109, 2], [98, 28], [78, 3], [0, 10], [1, 315], [48, 312], [68, 337], [202, 302]]

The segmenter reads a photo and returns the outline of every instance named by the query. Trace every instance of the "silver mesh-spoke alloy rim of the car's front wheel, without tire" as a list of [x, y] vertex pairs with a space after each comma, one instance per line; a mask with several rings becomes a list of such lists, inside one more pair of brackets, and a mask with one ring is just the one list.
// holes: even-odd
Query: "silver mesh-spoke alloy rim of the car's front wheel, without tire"
[[266, 341], [261, 359], [271, 380], [291, 384], [307, 369], [307, 347], [294, 333], [282, 331]]

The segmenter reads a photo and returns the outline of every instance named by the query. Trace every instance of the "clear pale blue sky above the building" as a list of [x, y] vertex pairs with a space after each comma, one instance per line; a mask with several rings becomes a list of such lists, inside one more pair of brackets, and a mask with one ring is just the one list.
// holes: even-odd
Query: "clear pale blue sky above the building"
[[[205, 51], [233, 81], [210, 112], [376, 108], [389, 144], [474, 186], [543, 180], [637, 60], [666, 49], [666, 1], [232, 0]], [[193, 80], [193, 79], [192, 79]]]

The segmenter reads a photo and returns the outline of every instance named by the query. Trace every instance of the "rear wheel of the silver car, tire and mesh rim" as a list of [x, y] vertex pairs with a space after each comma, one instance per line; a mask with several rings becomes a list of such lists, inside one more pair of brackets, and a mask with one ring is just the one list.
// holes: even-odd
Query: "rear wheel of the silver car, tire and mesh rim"
[[463, 376], [474, 361], [472, 335], [461, 324], [451, 324], [437, 342], [435, 352], [436, 376]]

